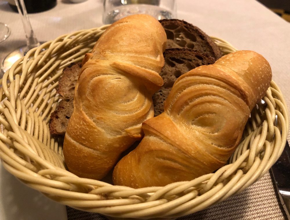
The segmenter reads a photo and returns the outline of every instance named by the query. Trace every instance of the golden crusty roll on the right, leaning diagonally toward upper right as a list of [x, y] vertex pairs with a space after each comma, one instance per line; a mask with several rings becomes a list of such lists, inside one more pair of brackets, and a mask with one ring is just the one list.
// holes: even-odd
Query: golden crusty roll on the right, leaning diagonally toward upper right
[[231, 53], [180, 76], [164, 112], [143, 123], [141, 143], [116, 165], [114, 184], [164, 186], [222, 167], [271, 76], [267, 60], [253, 51]]

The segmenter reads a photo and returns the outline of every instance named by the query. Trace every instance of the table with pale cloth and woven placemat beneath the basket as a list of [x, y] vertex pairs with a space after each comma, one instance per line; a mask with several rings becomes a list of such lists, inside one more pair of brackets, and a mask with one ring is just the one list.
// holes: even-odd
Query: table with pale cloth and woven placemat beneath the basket
[[[290, 23], [255, 0], [176, 0], [177, 19], [187, 21], [209, 36], [222, 38], [238, 50], [253, 50], [271, 65], [273, 80], [290, 106]], [[29, 14], [39, 41], [104, 25], [103, 1], [74, 3], [58, 0], [54, 8]], [[7, 1], [0, 1], [0, 22], [11, 35], [0, 43], [0, 61], [26, 44], [20, 16]], [[3, 73], [1, 74], [2, 77]], [[288, 140], [290, 136], [288, 135]], [[105, 220], [97, 213], [77, 210], [48, 199], [0, 166], [0, 220]], [[267, 172], [241, 193], [178, 220], [281, 220], [287, 219], [273, 176]]]

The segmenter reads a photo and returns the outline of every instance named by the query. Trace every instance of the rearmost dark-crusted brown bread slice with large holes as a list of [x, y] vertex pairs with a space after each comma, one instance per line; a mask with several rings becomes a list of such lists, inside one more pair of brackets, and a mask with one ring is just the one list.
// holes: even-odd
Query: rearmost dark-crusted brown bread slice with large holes
[[167, 35], [166, 49], [189, 48], [205, 53], [215, 59], [222, 53], [213, 40], [201, 29], [178, 19], [160, 20]]

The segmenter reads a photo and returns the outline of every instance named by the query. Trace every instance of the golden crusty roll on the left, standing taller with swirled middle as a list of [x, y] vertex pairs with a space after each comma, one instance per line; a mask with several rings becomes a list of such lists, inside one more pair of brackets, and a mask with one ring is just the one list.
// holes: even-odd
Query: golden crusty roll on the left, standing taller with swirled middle
[[154, 115], [152, 95], [162, 86], [166, 34], [149, 15], [112, 24], [86, 54], [64, 139], [72, 173], [101, 179], [119, 155], [143, 136]]

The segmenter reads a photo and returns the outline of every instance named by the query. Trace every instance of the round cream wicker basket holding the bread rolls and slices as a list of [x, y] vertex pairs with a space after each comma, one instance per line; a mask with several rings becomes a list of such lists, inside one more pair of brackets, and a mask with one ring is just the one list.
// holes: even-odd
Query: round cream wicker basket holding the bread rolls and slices
[[[61, 138], [52, 138], [50, 114], [62, 69], [82, 60], [108, 26], [63, 35], [30, 50], [7, 71], [0, 104], [3, 166], [28, 186], [77, 209], [118, 218], [175, 219], [240, 193], [261, 178], [283, 151], [289, 129], [287, 106], [271, 82], [251, 112], [244, 138], [229, 163], [215, 173], [164, 187], [133, 189], [79, 178], [66, 170]], [[223, 54], [233, 46], [213, 38]], [[45, 49], [45, 50], [44, 50]]]

